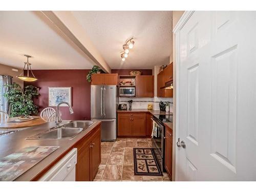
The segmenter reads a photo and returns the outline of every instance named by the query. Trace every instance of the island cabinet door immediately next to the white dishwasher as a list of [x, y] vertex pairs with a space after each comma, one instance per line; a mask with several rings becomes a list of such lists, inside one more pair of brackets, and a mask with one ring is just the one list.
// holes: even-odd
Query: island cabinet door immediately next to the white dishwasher
[[78, 151], [76, 181], [90, 181], [90, 143]]

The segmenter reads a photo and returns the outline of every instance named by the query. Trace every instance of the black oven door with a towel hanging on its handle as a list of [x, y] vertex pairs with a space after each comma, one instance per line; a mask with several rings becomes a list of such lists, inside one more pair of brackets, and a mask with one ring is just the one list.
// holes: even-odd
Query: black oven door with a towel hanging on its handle
[[164, 126], [158, 123], [155, 119], [152, 119], [152, 120], [153, 120], [153, 129], [155, 129], [155, 134], [153, 134], [152, 140], [156, 147], [156, 150], [158, 151], [158, 154], [161, 156], [161, 158], [163, 158], [164, 157]]

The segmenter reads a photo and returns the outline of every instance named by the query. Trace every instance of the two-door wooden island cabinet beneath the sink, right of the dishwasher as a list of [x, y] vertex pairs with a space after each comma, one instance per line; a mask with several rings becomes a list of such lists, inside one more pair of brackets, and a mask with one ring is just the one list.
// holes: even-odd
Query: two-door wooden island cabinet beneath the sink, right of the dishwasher
[[93, 181], [101, 162], [101, 124], [86, 138], [79, 141], [77, 148], [76, 181]]

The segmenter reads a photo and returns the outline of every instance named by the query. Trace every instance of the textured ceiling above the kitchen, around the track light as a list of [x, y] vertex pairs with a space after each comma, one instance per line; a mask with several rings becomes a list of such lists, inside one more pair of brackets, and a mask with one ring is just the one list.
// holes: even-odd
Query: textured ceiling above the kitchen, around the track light
[[[72, 11], [112, 69], [152, 69], [167, 65], [172, 50], [172, 11]], [[134, 48], [121, 61], [129, 37]]]

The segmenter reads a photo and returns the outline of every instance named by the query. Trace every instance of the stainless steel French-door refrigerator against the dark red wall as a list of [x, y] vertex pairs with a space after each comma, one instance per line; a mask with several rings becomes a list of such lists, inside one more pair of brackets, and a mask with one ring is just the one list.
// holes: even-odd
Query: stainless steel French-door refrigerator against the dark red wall
[[102, 121], [102, 141], [116, 140], [117, 104], [116, 86], [91, 86], [91, 119]]

